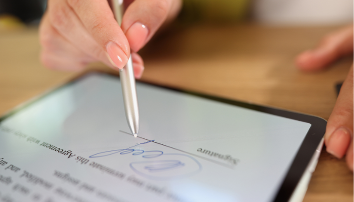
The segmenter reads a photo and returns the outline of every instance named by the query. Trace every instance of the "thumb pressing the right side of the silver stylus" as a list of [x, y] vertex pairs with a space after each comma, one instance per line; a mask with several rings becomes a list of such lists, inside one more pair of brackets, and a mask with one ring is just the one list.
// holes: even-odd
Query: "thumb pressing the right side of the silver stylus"
[[175, 16], [180, 0], [136, 0], [126, 9], [122, 30], [134, 52], [138, 52], [167, 19]]

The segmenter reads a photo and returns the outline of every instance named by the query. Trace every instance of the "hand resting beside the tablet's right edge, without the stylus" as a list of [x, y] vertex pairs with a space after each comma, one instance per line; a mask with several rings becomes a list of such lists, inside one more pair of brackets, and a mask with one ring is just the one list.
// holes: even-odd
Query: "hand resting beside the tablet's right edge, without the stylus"
[[[300, 54], [296, 63], [302, 70], [320, 70], [352, 53], [353, 26], [350, 26], [326, 36], [317, 48]], [[353, 65], [328, 119], [325, 144], [327, 152], [338, 159], [346, 154], [347, 165], [353, 171]]]

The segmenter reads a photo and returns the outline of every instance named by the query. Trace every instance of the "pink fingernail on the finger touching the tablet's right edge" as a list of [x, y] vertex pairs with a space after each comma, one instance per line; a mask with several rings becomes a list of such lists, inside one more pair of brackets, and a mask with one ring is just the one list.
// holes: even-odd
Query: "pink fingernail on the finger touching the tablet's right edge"
[[327, 152], [333, 156], [341, 159], [346, 153], [346, 149], [349, 146], [351, 139], [350, 132], [343, 127], [338, 128], [329, 137], [327, 146]]

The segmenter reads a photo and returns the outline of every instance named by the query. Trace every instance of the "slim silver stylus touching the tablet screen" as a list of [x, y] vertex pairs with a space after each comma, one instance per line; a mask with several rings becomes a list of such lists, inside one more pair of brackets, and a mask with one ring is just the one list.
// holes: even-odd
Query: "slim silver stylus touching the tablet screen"
[[[109, 0], [108, 2], [120, 26], [123, 16], [123, 0]], [[131, 55], [126, 65], [119, 70], [119, 76], [122, 85], [126, 121], [131, 133], [134, 134], [134, 137], [137, 137], [139, 132], [139, 106]]]

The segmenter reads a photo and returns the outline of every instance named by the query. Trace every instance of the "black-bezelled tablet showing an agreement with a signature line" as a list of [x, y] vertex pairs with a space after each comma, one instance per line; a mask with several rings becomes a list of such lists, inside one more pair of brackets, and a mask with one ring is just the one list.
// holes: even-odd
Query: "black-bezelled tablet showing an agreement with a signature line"
[[134, 138], [120, 85], [87, 73], [1, 118], [1, 201], [287, 201], [325, 132], [319, 117], [137, 82]]

